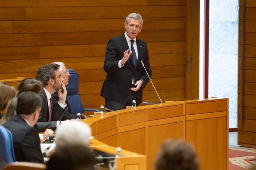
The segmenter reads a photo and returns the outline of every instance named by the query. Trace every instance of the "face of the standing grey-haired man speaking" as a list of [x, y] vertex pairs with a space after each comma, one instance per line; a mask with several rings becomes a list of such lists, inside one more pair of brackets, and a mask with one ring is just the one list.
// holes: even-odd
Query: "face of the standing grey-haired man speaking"
[[137, 35], [141, 32], [141, 20], [135, 20], [133, 18], [128, 19], [128, 23], [124, 23], [124, 27], [126, 29], [126, 34], [132, 40], [137, 37]]

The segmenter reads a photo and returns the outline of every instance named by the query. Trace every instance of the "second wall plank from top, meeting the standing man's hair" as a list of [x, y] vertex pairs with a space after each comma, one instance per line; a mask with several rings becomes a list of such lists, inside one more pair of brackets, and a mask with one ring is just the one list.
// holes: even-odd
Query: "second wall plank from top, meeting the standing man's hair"
[[[134, 6], [142, 16], [149, 18], [186, 17], [186, 6]], [[99, 12], [101, 11], [101, 12]], [[120, 14], [122, 11], [122, 14]], [[63, 20], [63, 19], [108, 19], [124, 18], [131, 12], [127, 6], [91, 6], [91, 7], [37, 7], [26, 8], [27, 20]]]

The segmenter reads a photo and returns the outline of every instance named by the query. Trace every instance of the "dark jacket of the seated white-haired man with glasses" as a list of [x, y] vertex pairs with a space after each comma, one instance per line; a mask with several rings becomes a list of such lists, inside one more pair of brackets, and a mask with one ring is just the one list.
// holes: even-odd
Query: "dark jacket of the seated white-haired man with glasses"
[[[53, 93], [52, 98], [53, 98], [53, 105], [54, 105], [53, 107], [57, 108], [58, 107], [57, 105], [59, 105], [58, 104], [58, 101], [59, 101], [58, 92]], [[62, 110], [62, 114], [60, 115], [59, 119], [60, 120], [76, 119], [77, 115], [72, 114], [72, 109], [71, 109], [67, 99], [66, 99], [66, 104], [67, 104], [67, 107]]]

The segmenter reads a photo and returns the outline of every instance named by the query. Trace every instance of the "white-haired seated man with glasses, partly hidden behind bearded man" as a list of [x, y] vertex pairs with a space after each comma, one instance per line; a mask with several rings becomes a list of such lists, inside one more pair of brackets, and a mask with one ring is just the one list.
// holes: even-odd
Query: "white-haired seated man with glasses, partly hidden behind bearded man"
[[[52, 64], [58, 64], [60, 66], [59, 72], [60, 72], [62, 78], [64, 79], [64, 84], [65, 84], [65, 86], [68, 85], [70, 74], [69, 74], [68, 69], [65, 67], [65, 64], [63, 62], [52, 62]], [[54, 106], [58, 105], [58, 101], [59, 101], [58, 91], [53, 93], [52, 97], [53, 97], [53, 105]], [[65, 101], [66, 101], [67, 107], [62, 110], [62, 114], [59, 117], [59, 119], [60, 120], [76, 119], [76, 115], [72, 114], [72, 109], [69, 105], [67, 98], [65, 99]]]

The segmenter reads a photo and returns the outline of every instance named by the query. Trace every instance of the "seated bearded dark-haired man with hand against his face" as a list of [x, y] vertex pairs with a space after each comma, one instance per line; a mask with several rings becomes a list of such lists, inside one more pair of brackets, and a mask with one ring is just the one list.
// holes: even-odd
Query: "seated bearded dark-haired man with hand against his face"
[[[41, 97], [42, 109], [36, 123], [38, 132], [44, 132], [47, 128], [55, 130], [60, 123], [60, 116], [66, 108], [67, 91], [64, 79], [59, 72], [58, 64], [46, 64], [39, 68], [36, 79], [43, 83]], [[58, 91], [59, 101], [57, 105], [52, 102], [52, 94]]]

